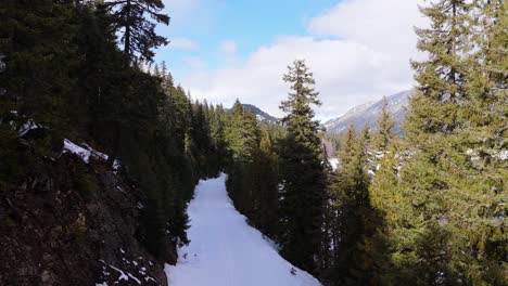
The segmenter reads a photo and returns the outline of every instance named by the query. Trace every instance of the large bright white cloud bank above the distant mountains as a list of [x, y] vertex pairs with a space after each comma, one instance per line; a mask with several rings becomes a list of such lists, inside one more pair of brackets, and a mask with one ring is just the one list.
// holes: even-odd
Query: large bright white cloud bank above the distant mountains
[[[280, 101], [289, 86], [282, 81], [287, 65], [305, 58], [314, 72], [327, 119], [354, 105], [409, 89], [416, 56], [412, 26], [422, 21], [422, 0], [345, 0], [313, 18], [307, 37], [280, 37], [259, 47], [242, 61], [217, 69], [198, 69], [182, 83], [193, 96], [229, 106], [234, 99], [280, 116]], [[322, 39], [322, 37], [338, 37]], [[223, 52], [236, 52], [233, 41]]]

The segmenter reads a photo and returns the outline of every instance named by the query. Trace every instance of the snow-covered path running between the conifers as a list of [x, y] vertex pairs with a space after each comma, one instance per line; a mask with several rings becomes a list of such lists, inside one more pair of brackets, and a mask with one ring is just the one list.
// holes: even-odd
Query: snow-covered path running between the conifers
[[[191, 243], [166, 265], [170, 286], [318, 286], [319, 282], [279, 256], [245, 222], [229, 199], [226, 176], [200, 181], [189, 205]], [[294, 272], [294, 271], [293, 271]]]

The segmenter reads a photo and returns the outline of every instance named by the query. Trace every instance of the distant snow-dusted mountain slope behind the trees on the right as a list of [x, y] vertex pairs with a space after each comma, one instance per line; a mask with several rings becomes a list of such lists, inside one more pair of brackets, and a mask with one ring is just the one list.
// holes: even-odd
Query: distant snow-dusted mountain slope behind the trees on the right
[[[401, 123], [404, 120], [404, 114], [408, 106], [408, 100], [411, 93], [412, 91], [406, 90], [386, 96], [389, 112], [392, 115], [392, 119], [395, 121], [393, 130], [396, 133], [402, 133]], [[357, 105], [351, 108], [343, 116], [328, 120], [323, 126], [327, 128], [327, 132], [332, 134], [345, 132], [351, 125], [353, 125], [357, 131], [361, 130], [365, 125], [368, 125], [371, 129], [376, 130], [376, 121], [381, 114], [382, 104], [383, 101], [379, 100]]]

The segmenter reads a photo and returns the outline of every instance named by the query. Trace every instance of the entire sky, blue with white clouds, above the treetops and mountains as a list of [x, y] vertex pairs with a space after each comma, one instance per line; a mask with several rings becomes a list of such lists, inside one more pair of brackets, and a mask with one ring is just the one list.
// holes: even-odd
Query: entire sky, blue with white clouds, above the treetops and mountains
[[294, 60], [314, 73], [318, 119], [415, 86], [421, 58], [414, 27], [424, 0], [163, 0], [172, 17], [156, 51], [193, 99], [236, 99], [275, 116], [288, 96], [282, 75]]

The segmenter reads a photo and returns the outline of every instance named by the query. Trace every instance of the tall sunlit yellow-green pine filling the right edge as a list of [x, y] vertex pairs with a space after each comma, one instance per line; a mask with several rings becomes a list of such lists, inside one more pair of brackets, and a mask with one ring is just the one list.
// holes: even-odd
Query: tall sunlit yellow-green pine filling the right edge
[[[488, 15], [492, 3], [443, 0], [422, 9], [432, 26], [418, 32], [429, 61], [414, 64], [419, 92], [410, 100], [406, 131], [415, 150], [396, 188], [402, 199], [392, 258], [398, 281], [503, 285], [506, 268], [498, 262], [506, 250], [497, 246], [506, 238], [503, 226], [492, 222], [500, 213], [506, 162], [485, 151], [496, 153], [495, 138], [506, 130], [499, 120], [506, 100], [498, 101], [506, 99], [506, 91], [488, 87], [506, 81], [484, 68], [493, 63], [485, 61], [485, 51], [503, 51], [497, 47], [506, 47], [506, 41], [487, 40], [496, 32], [479, 36], [483, 28], [477, 22], [506, 16], [500, 2]], [[498, 63], [503, 61], [494, 65]]]

